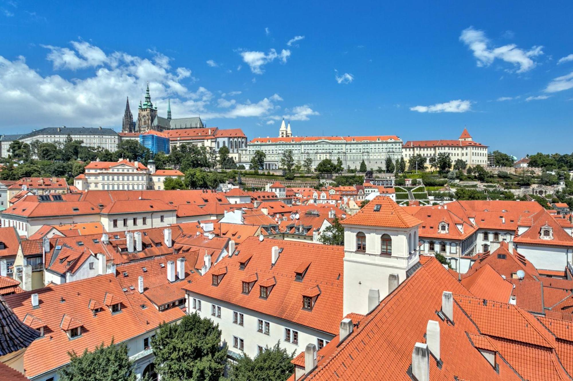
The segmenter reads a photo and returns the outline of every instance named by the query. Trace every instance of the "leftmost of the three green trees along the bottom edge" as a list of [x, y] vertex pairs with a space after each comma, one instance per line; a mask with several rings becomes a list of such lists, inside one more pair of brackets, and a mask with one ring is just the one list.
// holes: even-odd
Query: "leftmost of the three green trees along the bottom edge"
[[135, 381], [134, 362], [127, 352], [125, 343], [115, 345], [113, 340], [109, 347], [101, 343], [93, 352], [86, 349], [81, 356], [68, 352], [70, 363], [58, 375], [62, 381]]

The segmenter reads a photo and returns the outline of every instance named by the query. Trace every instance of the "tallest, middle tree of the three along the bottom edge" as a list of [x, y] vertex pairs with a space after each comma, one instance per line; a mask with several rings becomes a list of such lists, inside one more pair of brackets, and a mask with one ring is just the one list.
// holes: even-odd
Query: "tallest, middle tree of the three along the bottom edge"
[[197, 313], [179, 324], [163, 323], [151, 338], [156, 371], [162, 381], [219, 381], [227, 358], [221, 330]]

